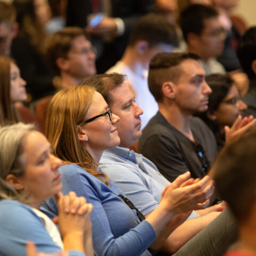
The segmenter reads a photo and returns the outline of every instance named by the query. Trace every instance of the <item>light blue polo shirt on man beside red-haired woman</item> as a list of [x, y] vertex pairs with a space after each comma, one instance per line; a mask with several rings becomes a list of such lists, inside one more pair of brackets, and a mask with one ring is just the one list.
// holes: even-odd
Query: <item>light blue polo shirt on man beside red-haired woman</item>
[[[128, 148], [105, 150], [99, 166], [144, 215], [156, 209], [162, 190], [171, 183], [149, 159]], [[188, 219], [196, 217], [193, 211]]]

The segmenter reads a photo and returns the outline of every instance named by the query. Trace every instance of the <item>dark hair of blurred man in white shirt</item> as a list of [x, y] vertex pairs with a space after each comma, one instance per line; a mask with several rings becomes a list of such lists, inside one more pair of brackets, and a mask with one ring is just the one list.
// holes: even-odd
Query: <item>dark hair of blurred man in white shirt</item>
[[139, 40], [146, 41], [150, 47], [157, 44], [178, 46], [178, 36], [175, 27], [162, 15], [149, 13], [141, 17], [131, 31], [128, 46], [133, 46]]

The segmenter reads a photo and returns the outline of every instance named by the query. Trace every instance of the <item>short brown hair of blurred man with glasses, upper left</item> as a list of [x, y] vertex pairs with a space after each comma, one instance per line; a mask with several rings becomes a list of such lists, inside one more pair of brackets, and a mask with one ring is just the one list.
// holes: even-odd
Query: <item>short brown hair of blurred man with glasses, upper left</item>
[[72, 47], [73, 41], [79, 36], [85, 36], [87, 38], [84, 29], [66, 27], [47, 38], [45, 44], [46, 59], [58, 74], [60, 73], [60, 69], [56, 65], [56, 60], [58, 58], [68, 58], [68, 53]]

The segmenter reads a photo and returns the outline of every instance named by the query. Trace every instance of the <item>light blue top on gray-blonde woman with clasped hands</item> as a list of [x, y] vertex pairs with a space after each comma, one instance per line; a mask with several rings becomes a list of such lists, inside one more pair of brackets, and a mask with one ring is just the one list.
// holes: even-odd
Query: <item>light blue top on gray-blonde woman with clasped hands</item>
[[[31, 207], [18, 201], [7, 199], [0, 201], [0, 230], [0, 255], [26, 256], [28, 241], [35, 243], [38, 252], [61, 251]], [[69, 251], [69, 255], [84, 256], [84, 253]]]

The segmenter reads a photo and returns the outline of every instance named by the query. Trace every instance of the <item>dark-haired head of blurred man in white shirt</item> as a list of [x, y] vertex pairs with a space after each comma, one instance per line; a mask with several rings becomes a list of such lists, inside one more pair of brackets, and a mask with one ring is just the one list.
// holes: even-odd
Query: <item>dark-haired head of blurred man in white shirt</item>
[[137, 51], [138, 58], [146, 63], [146, 68], [156, 53], [171, 52], [174, 46], [178, 46], [175, 27], [162, 15], [155, 13], [147, 14], [138, 20], [127, 45], [128, 49]]

